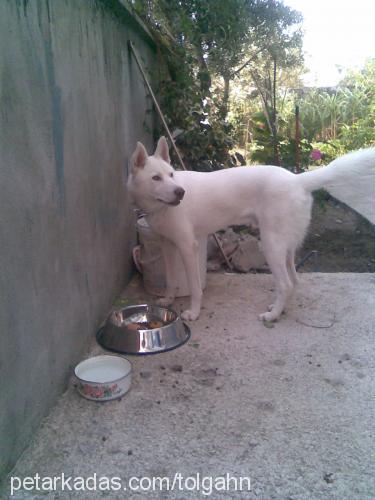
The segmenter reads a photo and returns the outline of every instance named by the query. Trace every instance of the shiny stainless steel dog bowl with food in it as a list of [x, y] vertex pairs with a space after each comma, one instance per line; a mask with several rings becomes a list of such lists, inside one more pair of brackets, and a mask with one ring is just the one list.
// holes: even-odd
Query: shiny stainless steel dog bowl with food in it
[[190, 329], [172, 309], [142, 304], [114, 311], [96, 338], [109, 351], [156, 354], [183, 345]]

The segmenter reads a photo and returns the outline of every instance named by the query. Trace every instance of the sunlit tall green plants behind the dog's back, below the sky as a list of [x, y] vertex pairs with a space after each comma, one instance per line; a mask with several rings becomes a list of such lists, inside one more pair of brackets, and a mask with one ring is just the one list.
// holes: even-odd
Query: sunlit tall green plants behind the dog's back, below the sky
[[[302, 167], [327, 164], [355, 149], [375, 145], [375, 59], [361, 71], [351, 72], [337, 88], [298, 88], [298, 78], [277, 88], [277, 143], [280, 163], [295, 164], [295, 104], [300, 109], [300, 159]], [[285, 82], [285, 81], [284, 81]], [[250, 87], [250, 82], [245, 84]], [[274, 160], [273, 131], [257, 91], [240, 90], [233, 97], [231, 122], [237, 141], [254, 162]], [[311, 151], [323, 158], [313, 161]]]

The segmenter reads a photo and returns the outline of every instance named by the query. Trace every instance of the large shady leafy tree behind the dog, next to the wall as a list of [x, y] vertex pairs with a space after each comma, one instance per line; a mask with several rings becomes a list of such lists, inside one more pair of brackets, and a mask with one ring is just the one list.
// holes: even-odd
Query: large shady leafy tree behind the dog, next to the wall
[[300, 54], [301, 17], [278, 0], [136, 0], [134, 6], [157, 39], [159, 97], [187, 163], [230, 166], [231, 82], [251, 65], [255, 74], [259, 61], [291, 64], [292, 54]]

